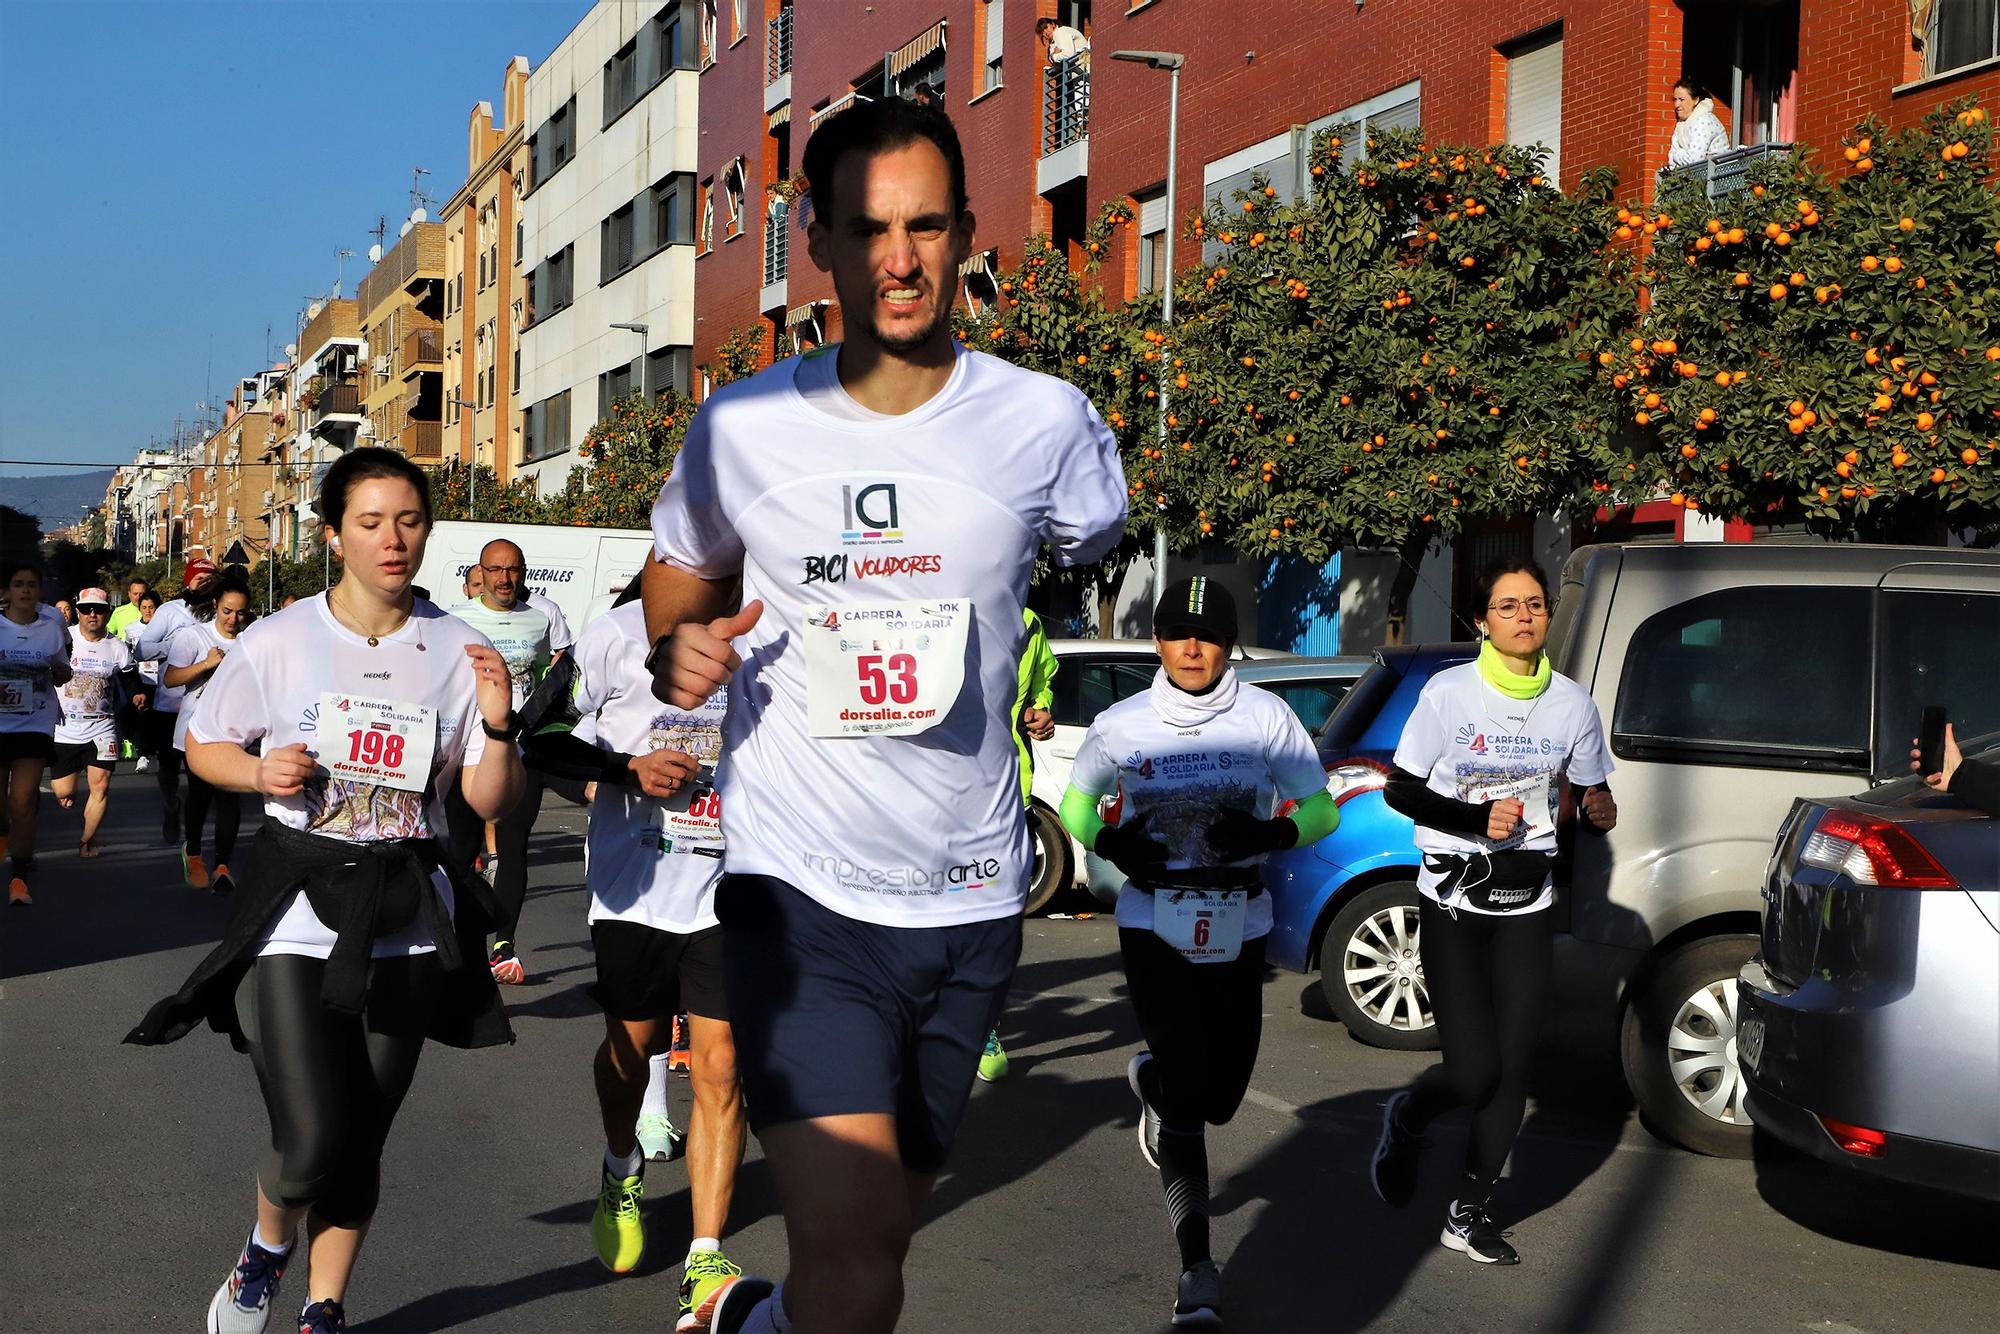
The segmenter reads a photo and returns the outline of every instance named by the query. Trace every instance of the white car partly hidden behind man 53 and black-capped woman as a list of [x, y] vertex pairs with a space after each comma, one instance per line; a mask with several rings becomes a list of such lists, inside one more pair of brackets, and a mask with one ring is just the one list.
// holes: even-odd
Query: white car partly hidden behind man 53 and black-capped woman
[[[1146, 690], [1160, 666], [1152, 640], [1050, 640], [1048, 648], [1056, 654], [1056, 704], [1050, 708], [1056, 734], [1032, 742], [1034, 880], [1028, 912], [1040, 912], [1060, 888], [1082, 882], [1086, 870], [1084, 846], [1056, 818], [1084, 732], [1102, 710]], [[1294, 654], [1238, 644], [1234, 658], [1278, 662]]]

